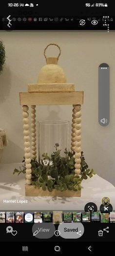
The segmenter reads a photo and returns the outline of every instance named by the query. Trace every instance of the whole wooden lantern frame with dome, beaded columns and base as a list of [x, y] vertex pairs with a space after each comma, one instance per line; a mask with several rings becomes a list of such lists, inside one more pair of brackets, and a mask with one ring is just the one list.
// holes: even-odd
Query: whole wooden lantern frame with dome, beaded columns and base
[[[56, 45], [50, 43], [49, 45]], [[47, 45], [47, 47], [49, 46]], [[28, 84], [28, 92], [20, 92], [20, 105], [23, 110], [23, 134], [24, 151], [26, 163], [26, 185], [25, 194], [28, 196], [80, 196], [81, 191], [43, 191], [42, 188], [35, 188], [32, 184], [31, 159], [37, 158], [36, 152], [36, 106], [37, 105], [73, 105], [72, 114], [72, 137], [71, 150], [75, 151], [75, 176], [80, 174], [81, 163], [81, 105], [83, 104], [83, 91], [75, 91], [75, 85], [66, 83], [63, 69], [58, 65], [58, 58], [61, 53], [59, 48], [58, 58], [47, 58], [46, 49], [44, 56], [46, 65], [43, 66], [38, 75], [37, 84]], [[29, 129], [29, 113], [31, 106], [31, 142]], [[32, 152], [32, 154], [31, 154]]]

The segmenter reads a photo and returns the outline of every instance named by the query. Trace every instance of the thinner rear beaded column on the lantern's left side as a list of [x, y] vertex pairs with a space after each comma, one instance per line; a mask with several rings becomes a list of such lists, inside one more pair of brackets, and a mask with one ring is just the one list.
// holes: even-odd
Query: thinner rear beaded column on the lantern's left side
[[31, 106], [31, 145], [32, 145], [32, 159], [37, 158], [36, 148], [36, 105]]

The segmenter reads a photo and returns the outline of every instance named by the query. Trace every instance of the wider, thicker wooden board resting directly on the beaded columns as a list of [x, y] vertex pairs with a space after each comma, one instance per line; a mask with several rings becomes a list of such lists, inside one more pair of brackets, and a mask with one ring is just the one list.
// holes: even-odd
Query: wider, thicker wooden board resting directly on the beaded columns
[[20, 105], [81, 105], [83, 91], [73, 92], [20, 92]]

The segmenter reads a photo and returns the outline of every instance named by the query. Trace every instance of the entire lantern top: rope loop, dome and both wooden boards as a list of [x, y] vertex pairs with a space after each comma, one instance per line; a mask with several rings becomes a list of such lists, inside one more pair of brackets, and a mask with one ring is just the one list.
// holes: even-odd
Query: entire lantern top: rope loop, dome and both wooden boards
[[[46, 57], [46, 49], [49, 45], [58, 47], [58, 57]], [[40, 69], [37, 83], [28, 84], [28, 92], [19, 93], [20, 105], [83, 104], [83, 91], [75, 91], [75, 85], [66, 82], [64, 71], [58, 65], [60, 54], [58, 44], [50, 43], [46, 46], [44, 56], [47, 64]]]

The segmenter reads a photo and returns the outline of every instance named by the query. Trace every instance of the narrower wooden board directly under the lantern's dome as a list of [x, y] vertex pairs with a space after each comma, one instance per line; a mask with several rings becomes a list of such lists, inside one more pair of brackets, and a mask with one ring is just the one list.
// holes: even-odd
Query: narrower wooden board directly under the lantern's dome
[[62, 84], [28, 84], [28, 92], [71, 92], [75, 91], [75, 85], [70, 83]]

